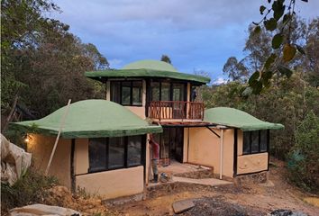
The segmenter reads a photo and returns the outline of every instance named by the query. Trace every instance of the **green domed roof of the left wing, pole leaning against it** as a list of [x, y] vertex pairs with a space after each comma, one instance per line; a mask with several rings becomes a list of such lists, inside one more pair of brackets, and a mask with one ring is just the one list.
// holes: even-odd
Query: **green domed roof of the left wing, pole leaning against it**
[[[36, 128], [41, 132], [57, 134], [67, 106], [36, 121], [22, 121], [16, 125]], [[150, 125], [138, 115], [118, 103], [106, 100], [85, 100], [71, 103], [65, 125], [64, 138], [120, 137], [160, 132], [159, 126]]]

